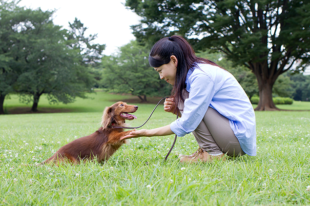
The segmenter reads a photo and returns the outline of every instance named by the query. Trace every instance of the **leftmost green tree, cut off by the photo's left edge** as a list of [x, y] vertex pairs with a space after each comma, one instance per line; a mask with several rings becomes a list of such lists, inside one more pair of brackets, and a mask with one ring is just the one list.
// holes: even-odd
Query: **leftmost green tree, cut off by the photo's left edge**
[[15, 1], [0, 0], [0, 114], [4, 114], [5, 97], [14, 91], [19, 75], [23, 71], [24, 59], [21, 58], [23, 47], [17, 42], [21, 22], [26, 23], [28, 10], [18, 7]]

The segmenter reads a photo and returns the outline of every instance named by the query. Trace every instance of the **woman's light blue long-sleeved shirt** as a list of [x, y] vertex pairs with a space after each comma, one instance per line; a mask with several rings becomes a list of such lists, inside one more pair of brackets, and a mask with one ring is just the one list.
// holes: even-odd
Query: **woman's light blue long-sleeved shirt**
[[255, 113], [246, 92], [232, 74], [210, 64], [197, 64], [186, 77], [189, 97], [182, 117], [170, 124], [179, 137], [194, 131], [211, 107], [229, 120], [242, 150], [256, 155]]

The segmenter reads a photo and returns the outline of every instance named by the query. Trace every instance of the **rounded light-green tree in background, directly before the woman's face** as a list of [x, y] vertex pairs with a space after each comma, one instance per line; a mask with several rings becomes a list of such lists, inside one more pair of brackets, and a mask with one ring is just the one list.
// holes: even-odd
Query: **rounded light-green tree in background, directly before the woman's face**
[[148, 48], [136, 41], [124, 45], [116, 55], [103, 57], [103, 87], [111, 92], [147, 96], [169, 95], [167, 83], [148, 64]]

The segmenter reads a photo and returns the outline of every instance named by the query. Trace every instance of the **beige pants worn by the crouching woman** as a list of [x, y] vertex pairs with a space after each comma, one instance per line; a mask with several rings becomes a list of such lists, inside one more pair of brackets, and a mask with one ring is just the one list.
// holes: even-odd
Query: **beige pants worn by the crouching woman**
[[[181, 103], [179, 105], [181, 114], [183, 108], [184, 103]], [[230, 128], [228, 119], [211, 107], [208, 107], [204, 119], [193, 131], [193, 135], [199, 147], [211, 155], [223, 152], [228, 156], [235, 157], [245, 154]]]

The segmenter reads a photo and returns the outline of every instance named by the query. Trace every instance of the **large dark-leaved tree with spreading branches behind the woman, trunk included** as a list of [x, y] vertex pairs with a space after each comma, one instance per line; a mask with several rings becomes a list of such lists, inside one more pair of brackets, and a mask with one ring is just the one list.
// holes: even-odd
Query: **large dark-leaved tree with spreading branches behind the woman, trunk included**
[[277, 110], [272, 87], [279, 75], [310, 63], [309, 0], [126, 0], [143, 19], [138, 41], [182, 35], [195, 50], [222, 51], [256, 76], [256, 110]]

